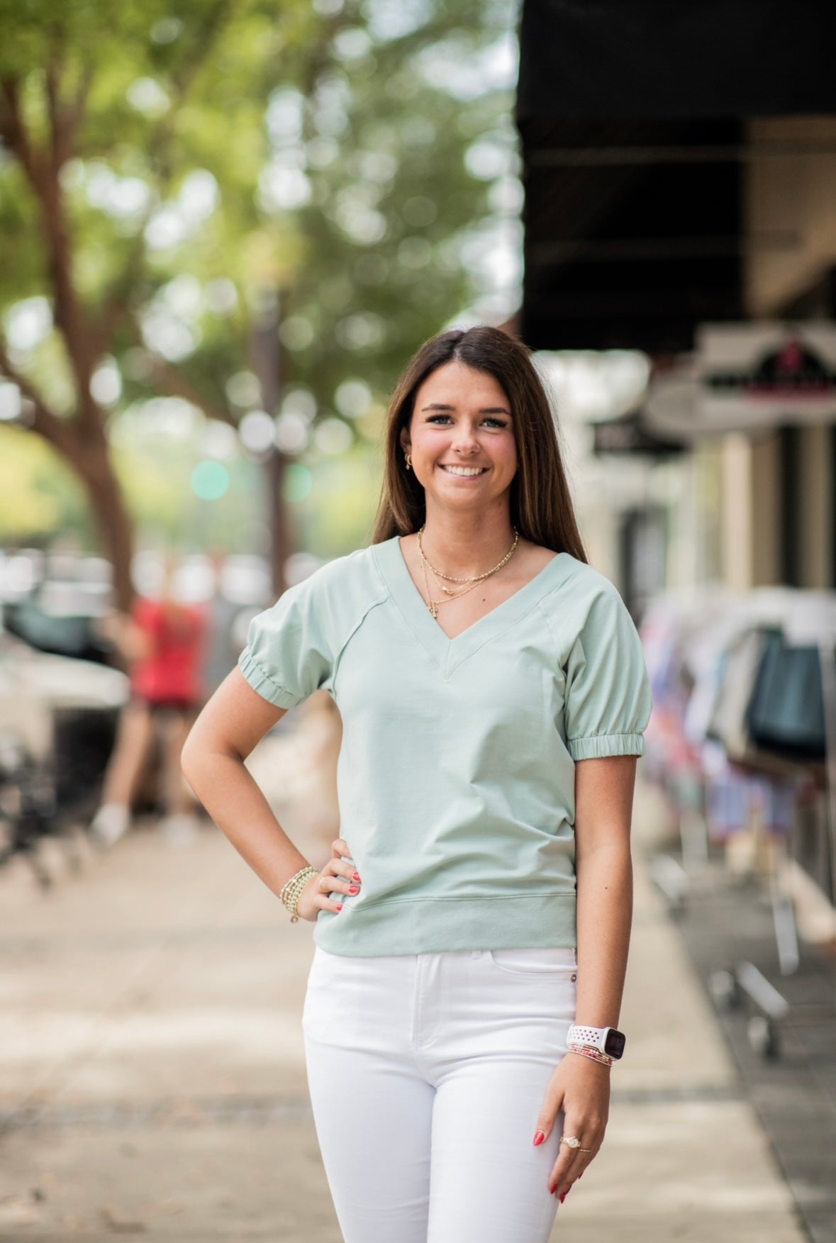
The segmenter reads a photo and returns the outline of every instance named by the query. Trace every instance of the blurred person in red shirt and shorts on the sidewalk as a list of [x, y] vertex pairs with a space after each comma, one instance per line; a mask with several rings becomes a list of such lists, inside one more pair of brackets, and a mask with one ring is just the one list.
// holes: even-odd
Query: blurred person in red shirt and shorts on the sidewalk
[[132, 697], [119, 718], [102, 803], [91, 824], [102, 845], [118, 842], [130, 827], [137, 783], [158, 730], [163, 743], [163, 832], [171, 840], [189, 840], [196, 832], [180, 752], [204, 699], [200, 670], [206, 619], [200, 609], [176, 598], [174, 571], [175, 563], [166, 558], [159, 597], [138, 597], [130, 614], [117, 613], [103, 626], [129, 666]]

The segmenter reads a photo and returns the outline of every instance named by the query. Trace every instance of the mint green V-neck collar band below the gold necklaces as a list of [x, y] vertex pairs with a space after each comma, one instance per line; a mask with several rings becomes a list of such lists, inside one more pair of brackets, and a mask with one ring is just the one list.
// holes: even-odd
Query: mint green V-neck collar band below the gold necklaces
[[569, 572], [573, 558], [559, 552], [513, 595], [494, 605], [489, 613], [472, 622], [466, 630], [451, 639], [430, 613], [424, 597], [412, 582], [400, 536], [373, 544], [380, 573], [401, 617], [417, 641], [447, 676], [489, 639], [503, 634], [522, 620]]

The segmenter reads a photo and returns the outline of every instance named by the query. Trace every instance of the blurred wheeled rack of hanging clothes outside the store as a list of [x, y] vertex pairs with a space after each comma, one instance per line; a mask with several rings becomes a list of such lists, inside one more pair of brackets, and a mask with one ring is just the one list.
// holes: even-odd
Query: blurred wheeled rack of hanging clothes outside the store
[[[814, 808], [814, 822], [824, 833], [819, 853], [826, 860], [826, 868], [814, 879], [831, 909], [836, 905], [836, 593], [761, 588], [734, 595], [709, 589], [699, 599], [666, 595], [650, 603], [641, 634], [663, 723], [656, 730], [651, 720], [647, 767], [651, 781], [656, 778], [668, 796], [673, 796], [681, 840], [681, 860], [668, 854], [657, 855], [651, 864], [651, 876], [675, 915], [684, 914], [694, 896], [709, 899], [704, 878], [711, 878], [709, 864], [717, 854], [709, 824], [712, 782], [717, 781], [709, 761], [712, 755], [716, 762], [718, 758], [717, 750], [712, 752], [712, 746], [717, 747], [711, 742], [712, 712], [723, 694], [729, 699], [729, 687], [723, 687], [720, 680], [725, 655], [735, 644], [745, 643], [748, 635], [756, 636], [768, 629], [780, 630], [788, 649], [817, 650], [824, 712], [824, 762], [758, 755], [750, 740], [744, 738], [743, 730], [737, 741], [732, 731], [733, 758], [728, 764], [732, 784], [739, 781], [745, 789], [747, 783], [752, 788], [759, 782], [764, 788], [773, 783], [778, 791], [788, 782], [791, 792], [793, 781], [797, 782], [786, 832], [775, 832], [775, 824], [766, 823], [763, 804], [747, 822], [749, 849], [758, 856], [759, 879], [765, 879], [768, 886], [778, 971], [786, 977], [797, 971], [801, 957], [795, 900], [786, 890], [785, 879], [794, 869], [804, 869], [797, 856], [797, 810], [801, 792], [809, 797], [811, 788], [822, 804]], [[750, 646], [753, 650], [747, 659], [752, 663], [756, 643], [753, 640]], [[738, 665], [742, 659], [738, 651]], [[759, 660], [763, 659], [761, 654]], [[754, 676], [754, 666], [750, 671]], [[734, 704], [734, 697], [730, 699]], [[748, 712], [748, 706], [744, 707]], [[817, 705], [810, 705], [815, 715], [814, 709], [817, 711]], [[677, 725], [679, 737], [676, 737]], [[722, 771], [722, 761], [719, 768]], [[805, 787], [805, 777], [814, 784]], [[756, 799], [753, 802], [758, 804]], [[753, 866], [753, 871], [758, 868]], [[752, 1045], [763, 1055], [778, 1055], [779, 1032], [790, 1022], [790, 1006], [761, 971], [748, 961], [734, 962], [712, 973], [709, 989], [718, 1006], [734, 1007], [745, 1002], [752, 1009], [748, 1022]]]

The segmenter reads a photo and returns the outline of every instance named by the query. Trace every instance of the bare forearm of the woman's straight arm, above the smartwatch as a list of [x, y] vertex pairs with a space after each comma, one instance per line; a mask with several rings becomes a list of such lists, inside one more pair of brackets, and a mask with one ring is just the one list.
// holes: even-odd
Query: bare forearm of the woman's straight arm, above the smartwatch
[[585, 1027], [617, 1027], [632, 924], [630, 846], [600, 846], [576, 860], [578, 1011]]

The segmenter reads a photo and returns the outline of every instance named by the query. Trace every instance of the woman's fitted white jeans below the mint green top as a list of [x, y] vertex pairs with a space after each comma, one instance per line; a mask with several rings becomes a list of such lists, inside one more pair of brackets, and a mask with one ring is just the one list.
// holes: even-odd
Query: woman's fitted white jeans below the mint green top
[[575, 1019], [574, 948], [333, 955], [302, 1028], [345, 1243], [547, 1243], [563, 1112], [543, 1098]]

